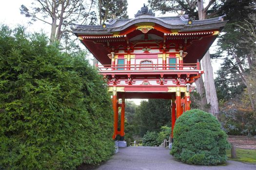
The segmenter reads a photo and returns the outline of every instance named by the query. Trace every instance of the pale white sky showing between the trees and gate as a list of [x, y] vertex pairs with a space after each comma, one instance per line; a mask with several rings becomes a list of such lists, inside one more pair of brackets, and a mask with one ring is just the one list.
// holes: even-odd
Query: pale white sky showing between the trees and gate
[[[22, 25], [27, 27], [27, 30], [30, 32], [41, 32], [43, 30], [44, 33], [50, 32], [50, 27], [48, 24], [42, 23], [41, 21], [36, 21], [34, 24], [28, 24], [30, 21], [29, 18], [24, 17], [20, 14], [20, 6], [24, 4], [26, 7], [31, 5], [31, 2], [34, 0], [1, 0], [0, 5], [0, 24], [6, 24], [10, 27], [15, 27], [17, 25]], [[128, 15], [129, 18], [134, 18], [134, 15], [140, 10], [143, 6], [143, 3], [148, 4], [147, 0], [127, 0], [128, 1]], [[156, 13], [156, 17], [161, 17], [160, 13]], [[165, 14], [165, 17], [168, 16], [176, 16], [176, 14]], [[216, 49], [216, 42], [210, 48], [210, 52]], [[220, 67], [220, 63], [218, 61], [212, 61], [212, 66], [214, 72]], [[216, 77], [216, 75], [215, 75]], [[140, 100], [135, 100], [135, 103], [139, 104]]]

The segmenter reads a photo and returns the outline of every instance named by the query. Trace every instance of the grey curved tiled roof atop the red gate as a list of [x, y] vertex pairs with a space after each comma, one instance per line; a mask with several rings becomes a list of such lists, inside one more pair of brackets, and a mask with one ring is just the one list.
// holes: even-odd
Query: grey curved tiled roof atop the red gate
[[189, 18], [187, 15], [177, 17], [155, 17], [149, 14], [143, 14], [133, 19], [112, 19], [106, 24], [105, 28], [101, 25], [76, 24], [72, 30], [75, 34], [113, 34], [113, 32], [119, 32], [134, 24], [143, 22], [155, 23], [167, 29], [178, 29], [180, 31], [210, 30], [224, 27], [227, 21], [223, 21], [223, 17], [225, 16], [204, 20], [193, 20], [193, 23], [189, 25]]

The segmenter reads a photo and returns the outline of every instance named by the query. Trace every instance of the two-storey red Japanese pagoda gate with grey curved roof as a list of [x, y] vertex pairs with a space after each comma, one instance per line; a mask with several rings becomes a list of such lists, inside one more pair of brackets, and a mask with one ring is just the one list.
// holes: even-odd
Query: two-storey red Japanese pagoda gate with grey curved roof
[[125, 99], [171, 99], [174, 128], [176, 119], [190, 110], [193, 83], [203, 74], [199, 60], [226, 24], [223, 17], [155, 17], [144, 6], [133, 19], [111, 19], [108, 24], [73, 28], [98, 59], [99, 74], [112, 92], [113, 139], [117, 135], [124, 139]]

